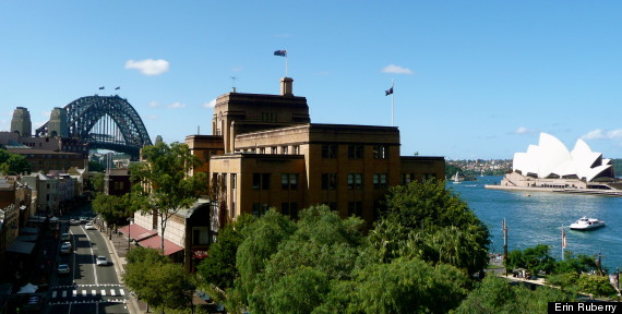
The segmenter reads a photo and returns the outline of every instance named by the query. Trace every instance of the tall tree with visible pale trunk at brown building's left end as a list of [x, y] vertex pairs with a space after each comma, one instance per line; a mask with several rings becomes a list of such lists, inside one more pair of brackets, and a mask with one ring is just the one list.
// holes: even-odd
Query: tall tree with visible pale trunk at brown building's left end
[[190, 153], [188, 145], [160, 142], [142, 150], [144, 162], [132, 164], [132, 202], [139, 202], [141, 212], [158, 216], [162, 230], [162, 250], [168, 219], [188, 208], [207, 191], [207, 177], [199, 172], [190, 176], [201, 160]]

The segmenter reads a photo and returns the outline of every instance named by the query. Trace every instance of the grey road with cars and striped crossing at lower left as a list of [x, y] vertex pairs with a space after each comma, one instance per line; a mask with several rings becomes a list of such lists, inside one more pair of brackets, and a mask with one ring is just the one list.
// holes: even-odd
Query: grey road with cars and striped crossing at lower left
[[[60, 253], [56, 245], [56, 264], [68, 264], [70, 274], [58, 274], [55, 266], [47, 292], [46, 313], [130, 313], [129, 290], [119, 282], [118, 267], [99, 230], [86, 230], [85, 224], [70, 226], [69, 219], [94, 218], [88, 207], [61, 217], [61, 231], [71, 235], [73, 250]], [[97, 266], [95, 258], [105, 256], [106, 266]]]

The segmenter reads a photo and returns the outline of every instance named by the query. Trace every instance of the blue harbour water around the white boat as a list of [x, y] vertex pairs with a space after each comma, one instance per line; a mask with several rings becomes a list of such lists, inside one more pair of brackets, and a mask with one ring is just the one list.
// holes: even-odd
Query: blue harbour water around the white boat
[[[547, 244], [551, 255], [561, 259], [561, 228], [564, 226], [566, 251], [589, 256], [601, 254], [602, 266], [610, 271], [622, 268], [622, 197], [483, 188], [499, 184], [501, 179], [487, 176], [457, 184], [447, 181], [447, 188], [488, 225], [492, 235], [491, 251], [503, 252], [501, 224], [505, 219], [509, 251]], [[583, 216], [605, 220], [607, 226], [593, 231], [570, 230], [569, 226]]]

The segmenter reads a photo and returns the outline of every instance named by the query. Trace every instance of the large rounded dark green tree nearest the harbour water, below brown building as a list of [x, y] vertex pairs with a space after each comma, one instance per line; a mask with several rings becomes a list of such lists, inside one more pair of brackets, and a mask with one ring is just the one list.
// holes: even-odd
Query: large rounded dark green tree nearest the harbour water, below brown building
[[[387, 221], [378, 224], [373, 232], [393, 238], [387, 243], [399, 247], [392, 250], [393, 257], [407, 255], [448, 263], [468, 274], [480, 273], [488, 265], [488, 227], [464, 201], [445, 189], [442, 180], [390, 188], [382, 219]], [[382, 231], [382, 228], [393, 231]], [[392, 257], [384, 254], [384, 258]]]

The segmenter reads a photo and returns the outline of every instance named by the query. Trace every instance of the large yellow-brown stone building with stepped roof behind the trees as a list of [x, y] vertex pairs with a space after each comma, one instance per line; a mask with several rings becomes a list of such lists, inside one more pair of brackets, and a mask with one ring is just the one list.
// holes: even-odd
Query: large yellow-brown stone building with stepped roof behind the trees
[[290, 77], [280, 80], [280, 95], [219, 96], [212, 126], [213, 135], [186, 143], [206, 161], [196, 171], [212, 178], [220, 226], [271, 207], [296, 218], [326, 204], [370, 227], [388, 186], [445, 177], [443, 157], [400, 156], [396, 126], [311, 123]]

